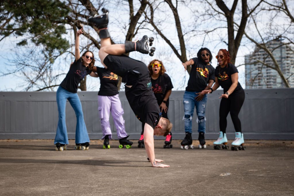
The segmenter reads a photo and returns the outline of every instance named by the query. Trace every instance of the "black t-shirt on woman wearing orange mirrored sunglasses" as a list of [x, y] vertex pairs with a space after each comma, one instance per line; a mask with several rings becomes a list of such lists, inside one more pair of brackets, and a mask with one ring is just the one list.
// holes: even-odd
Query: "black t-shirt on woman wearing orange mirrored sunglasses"
[[152, 91], [156, 97], [158, 105], [160, 105], [167, 91], [173, 88], [173, 84], [171, 83], [171, 78], [166, 73], [164, 73], [163, 75], [158, 76], [156, 80], [153, 80], [151, 78], [151, 83], [152, 83]]

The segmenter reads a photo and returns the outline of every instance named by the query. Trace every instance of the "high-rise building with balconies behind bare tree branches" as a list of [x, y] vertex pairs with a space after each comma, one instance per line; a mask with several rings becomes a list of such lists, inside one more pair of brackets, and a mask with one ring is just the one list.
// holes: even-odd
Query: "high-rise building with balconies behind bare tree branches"
[[[288, 79], [291, 87], [294, 87], [294, 48], [283, 45], [283, 40], [277, 38], [265, 44], [272, 51], [282, 73]], [[246, 88], [284, 88], [278, 72], [268, 66], [275, 67], [273, 59], [268, 53], [258, 46], [249, 55], [245, 56], [245, 82]]]

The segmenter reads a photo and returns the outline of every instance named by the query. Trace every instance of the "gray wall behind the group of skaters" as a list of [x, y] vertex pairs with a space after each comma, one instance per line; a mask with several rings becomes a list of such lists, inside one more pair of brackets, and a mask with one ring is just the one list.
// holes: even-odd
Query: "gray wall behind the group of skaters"
[[[206, 139], [216, 139], [219, 131], [218, 98], [222, 90], [208, 95], [206, 107]], [[173, 91], [168, 116], [173, 123], [173, 139], [184, 138], [184, 91]], [[90, 139], [102, 137], [97, 111], [97, 92], [78, 92]], [[141, 122], [136, 119], [124, 92], [119, 93], [124, 109], [126, 131], [138, 139]], [[194, 111], [196, 116], [196, 111]], [[294, 139], [294, 88], [246, 89], [245, 102], [239, 118], [245, 139]], [[234, 127], [228, 115], [227, 136], [233, 139]], [[117, 139], [111, 120], [113, 138]], [[0, 92], [0, 139], [54, 139], [58, 122], [56, 92]], [[69, 102], [66, 105], [66, 125], [74, 139], [76, 117]], [[198, 138], [196, 117], [193, 119], [193, 139]], [[155, 137], [155, 139], [164, 139]]]

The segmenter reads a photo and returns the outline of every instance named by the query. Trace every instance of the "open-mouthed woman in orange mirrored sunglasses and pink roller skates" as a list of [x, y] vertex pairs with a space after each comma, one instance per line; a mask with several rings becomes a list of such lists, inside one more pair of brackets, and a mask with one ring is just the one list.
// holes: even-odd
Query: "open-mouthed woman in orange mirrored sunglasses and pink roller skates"
[[[152, 91], [156, 97], [157, 103], [161, 110], [161, 115], [163, 118], [168, 119], [167, 111], [169, 105], [169, 96], [171, 95], [171, 89], [173, 84], [171, 78], [165, 73], [166, 69], [163, 66], [162, 61], [154, 59], [148, 65], [149, 75], [151, 76]], [[141, 138], [138, 141], [138, 147], [144, 148], [144, 125], [142, 124]], [[163, 148], [172, 148], [171, 145], [172, 134], [169, 133], [166, 136]]]

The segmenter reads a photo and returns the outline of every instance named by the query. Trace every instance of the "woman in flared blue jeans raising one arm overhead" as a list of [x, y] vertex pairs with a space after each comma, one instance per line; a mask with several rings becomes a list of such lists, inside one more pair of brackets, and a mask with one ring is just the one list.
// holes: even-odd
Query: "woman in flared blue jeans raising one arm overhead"
[[57, 92], [56, 100], [58, 107], [58, 124], [54, 145], [56, 150], [66, 150], [66, 144], [69, 144], [65, 123], [65, 107], [66, 100], [74, 108], [76, 113], [76, 146], [75, 149], [85, 150], [89, 148], [89, 136], [85, 125], [81, 101], [78, 97], [77, 90], [78, 84], [85, 76], [90, 74], [93, 77], [98, 77], [91, 69], [95, 63], [94, 55], [91, 51], [86, 51], [80, 55], [79, 50], [79, 37], [83, 33], [83, 28], [79, 29], [76, 33], [75, 42], [75, 61], [71, 64], [69, 72], [61, 82]]

